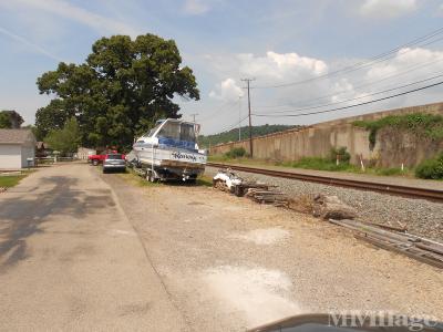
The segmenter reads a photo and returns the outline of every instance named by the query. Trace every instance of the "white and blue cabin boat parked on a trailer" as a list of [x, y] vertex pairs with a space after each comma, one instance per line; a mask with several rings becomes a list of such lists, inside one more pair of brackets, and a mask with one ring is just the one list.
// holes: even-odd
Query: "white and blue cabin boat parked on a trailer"
[[152, 181], [177, 178], [195, 181], [205, 170], [207, 159], [206, 153], [198, 149], [198, 128], [195, 123], [176, 118], [158, 121], [137, 138], [127, 159]]

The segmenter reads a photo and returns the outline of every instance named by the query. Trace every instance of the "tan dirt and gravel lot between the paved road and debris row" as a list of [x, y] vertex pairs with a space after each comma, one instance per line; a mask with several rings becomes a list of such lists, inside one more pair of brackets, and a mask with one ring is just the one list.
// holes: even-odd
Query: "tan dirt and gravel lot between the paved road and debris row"
[[307, 215], [209, 187], [116, 191], [189, 330], [240, 331], [306, 312], [391, 310], [443, 319], [443, 273]]

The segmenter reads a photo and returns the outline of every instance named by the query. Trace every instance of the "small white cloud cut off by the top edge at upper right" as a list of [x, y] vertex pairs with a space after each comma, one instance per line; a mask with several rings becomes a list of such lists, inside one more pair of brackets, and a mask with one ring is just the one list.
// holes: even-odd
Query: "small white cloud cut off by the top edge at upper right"
[[408, 14], [416, 8], [416, 0], [365, 0], [360, 13], [370, 18], [390, 19]]

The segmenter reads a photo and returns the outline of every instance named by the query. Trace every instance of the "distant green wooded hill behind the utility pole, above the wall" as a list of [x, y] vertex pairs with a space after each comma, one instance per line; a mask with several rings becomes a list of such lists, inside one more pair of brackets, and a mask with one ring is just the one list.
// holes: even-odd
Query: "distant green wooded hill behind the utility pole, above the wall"
[[[262, 126], [253, 126], [253, 137], [262, 136], [272, 134], [276, 132], [281, 132], [286, 129], [290, 129], [297, 126], [288, 126], [288, 125], [262, 125]], [[241, 127], [241, 139], [246, 139], [249, 137], [249, 128], [247, 126]], [[229, 132], [224, 132], [214, 135], [200, 135], [198, 137], [198, 144], [200, 147], [209, 147], [210, 145], [216, 145], [219, 143], [228, 143], [238, 141], [238, 128], [231, 129]]]

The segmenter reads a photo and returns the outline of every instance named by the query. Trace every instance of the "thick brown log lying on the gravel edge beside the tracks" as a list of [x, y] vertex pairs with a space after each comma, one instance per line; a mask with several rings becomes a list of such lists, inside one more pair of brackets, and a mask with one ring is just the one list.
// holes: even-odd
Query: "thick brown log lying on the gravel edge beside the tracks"
[[353, 219], [357, 217], [357, 210], [337, 196], [317, 195], [313, 198], [313, 216], [326, 220]]

